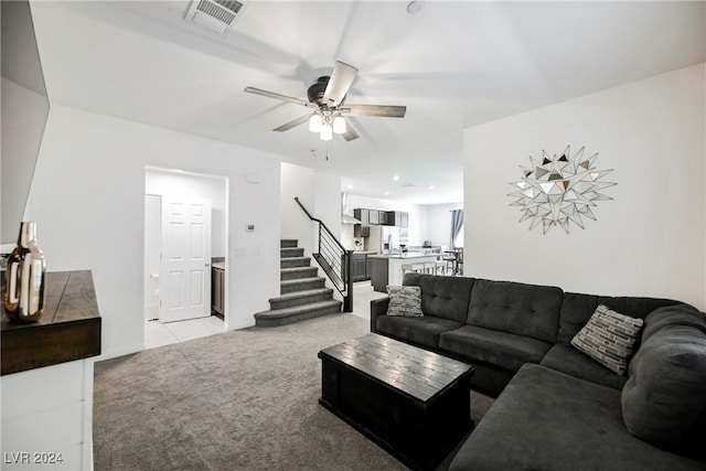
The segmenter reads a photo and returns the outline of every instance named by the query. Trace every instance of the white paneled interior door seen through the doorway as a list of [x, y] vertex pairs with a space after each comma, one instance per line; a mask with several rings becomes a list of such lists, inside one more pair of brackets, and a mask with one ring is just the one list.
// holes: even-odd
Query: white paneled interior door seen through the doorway
[[160, 322], [211, 315], [211, 204], [162, 197]]

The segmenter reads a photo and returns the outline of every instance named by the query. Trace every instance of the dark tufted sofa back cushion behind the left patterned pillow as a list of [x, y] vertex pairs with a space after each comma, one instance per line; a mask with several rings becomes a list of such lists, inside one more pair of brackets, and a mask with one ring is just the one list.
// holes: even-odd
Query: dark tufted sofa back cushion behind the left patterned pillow
[[406, 274], [404, 286], [421, 288], [421, 312], [425, 315], [466, 322], [473, 278]]

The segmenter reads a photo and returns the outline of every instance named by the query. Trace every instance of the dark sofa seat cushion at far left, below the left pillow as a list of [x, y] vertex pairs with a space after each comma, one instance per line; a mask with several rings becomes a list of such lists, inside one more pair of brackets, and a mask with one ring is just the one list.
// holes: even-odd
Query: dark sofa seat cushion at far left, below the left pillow
[[396, 339], [405, 340], [417, 345], [437, 349], [439, 334], [458, 329], [460, 322], [441, 319], [434, 315], [421, 318], [381, 315], [377, 318], [377, 332]]

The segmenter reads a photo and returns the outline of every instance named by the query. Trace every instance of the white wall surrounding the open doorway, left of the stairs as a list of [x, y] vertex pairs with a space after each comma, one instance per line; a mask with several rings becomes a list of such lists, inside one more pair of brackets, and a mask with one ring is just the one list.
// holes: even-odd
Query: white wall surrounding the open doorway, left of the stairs
[[26, 213], [50, 270], [93, 270], [103, 357], [143, 345], [146, 167], [228, 179], [225, 319], [238, 329], [279, 293], [279, 163], [267, 152], [52, 105]]

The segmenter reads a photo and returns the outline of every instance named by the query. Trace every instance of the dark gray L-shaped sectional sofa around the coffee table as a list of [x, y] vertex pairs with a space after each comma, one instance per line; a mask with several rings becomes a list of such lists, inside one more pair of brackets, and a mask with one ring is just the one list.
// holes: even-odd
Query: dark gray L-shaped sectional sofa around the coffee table
[[[407, 274], [422, 317], [371, 331], [475, 367], [496, 400], [451, 470], [706, 470], [706, 314], [668, 299], [600, 297], [557, 287]], [[599, 304], [644, 320], [628, 375], [571, 345]]]

